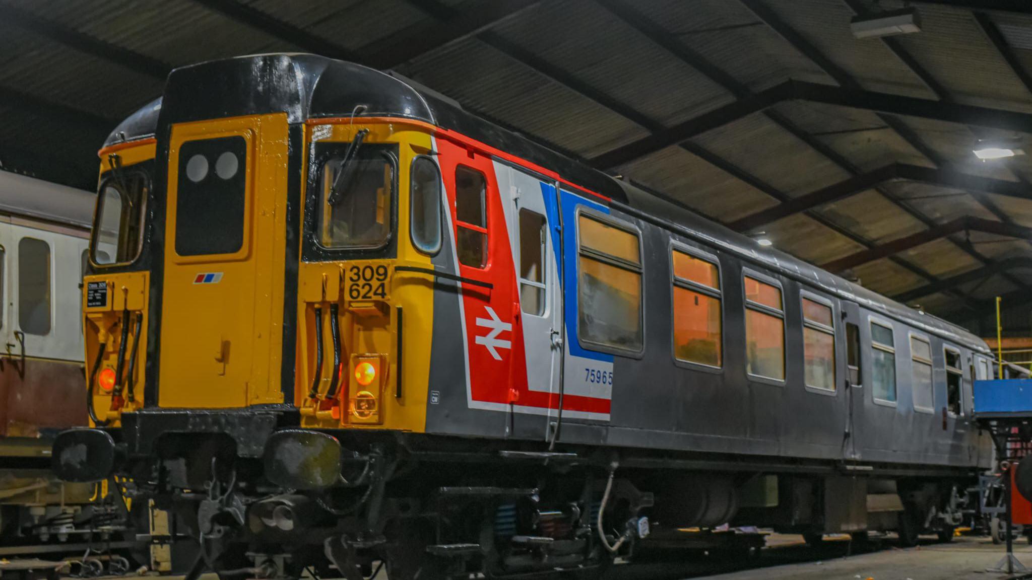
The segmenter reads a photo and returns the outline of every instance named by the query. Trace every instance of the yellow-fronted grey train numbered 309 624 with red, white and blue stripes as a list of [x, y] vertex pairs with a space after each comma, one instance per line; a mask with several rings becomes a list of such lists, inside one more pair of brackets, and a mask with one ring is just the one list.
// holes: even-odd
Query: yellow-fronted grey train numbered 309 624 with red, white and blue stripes
[[205, 568], [589, 571], [678, 528], [946, 540], [964, 329], [311, 55], [170, 73], [100, 152], [93, 428]]

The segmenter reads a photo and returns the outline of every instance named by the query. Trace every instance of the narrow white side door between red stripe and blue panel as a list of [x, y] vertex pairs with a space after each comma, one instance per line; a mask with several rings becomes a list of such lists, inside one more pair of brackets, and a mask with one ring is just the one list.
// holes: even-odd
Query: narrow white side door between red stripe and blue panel
[[[519, 169], [495, 163], [503, 194], [513, 263], [516, 266], [519, 311], [526, 358], [525, 392], [518, 405], [546, 414], [516, 413], [513, 434], [548, 438], [548, 423], [557, 415], [562, 297], [556, 253], [558, 213], [555, 185]], [[516, 385], [523, 391], [524, 385]]]

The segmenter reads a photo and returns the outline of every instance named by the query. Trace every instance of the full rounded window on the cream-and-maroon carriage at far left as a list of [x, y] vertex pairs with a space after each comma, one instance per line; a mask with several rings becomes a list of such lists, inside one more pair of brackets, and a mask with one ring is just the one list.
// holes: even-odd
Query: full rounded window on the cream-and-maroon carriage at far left
[[26, 334], [51, 332], [51, 247], [34, 237], [18, 243], [18, 325]]

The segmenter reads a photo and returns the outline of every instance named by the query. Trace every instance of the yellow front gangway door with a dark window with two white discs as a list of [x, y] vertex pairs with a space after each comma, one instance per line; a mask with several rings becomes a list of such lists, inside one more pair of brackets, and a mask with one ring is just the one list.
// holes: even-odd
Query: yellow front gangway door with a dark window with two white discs
[[172, 127], [161, 407], [281, 402], [284, 115]]

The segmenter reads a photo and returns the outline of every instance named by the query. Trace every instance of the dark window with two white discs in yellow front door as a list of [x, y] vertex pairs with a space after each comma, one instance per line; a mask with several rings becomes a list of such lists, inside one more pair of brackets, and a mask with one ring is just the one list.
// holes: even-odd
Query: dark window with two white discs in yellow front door
[[244, 247], [247, 141], [222, 137], [180, 148], [175, 253], [232, 254]]

